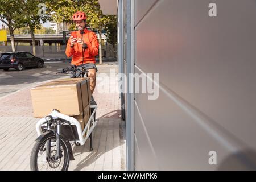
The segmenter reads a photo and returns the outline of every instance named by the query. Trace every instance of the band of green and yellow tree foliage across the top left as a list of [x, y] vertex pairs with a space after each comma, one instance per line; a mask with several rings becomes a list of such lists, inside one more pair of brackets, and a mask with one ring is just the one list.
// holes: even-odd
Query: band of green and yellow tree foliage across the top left
[[[46, 4], [46, 12], [39, 16], [38, 5]], [[104, 15], [100, 9], [98, 0], [4, 0], [0, 1], [0, 20], [13, 32], [17, 28], [30, 27], [32, 31], [38, 30], [40, 24], [47, 20], [70, 23], [70, 30], [76, 26], [72, 22], [72, 15], [76, 11], [85, 11], [87, 24], [92, 30], [101, 32], [106, 30], [108, 41], [111, 44], [116, 42], [117, 22], [115, 15]], [[51, 14], [50, 12], [55, 12]], [[22, 32], [24, 30], [25, 32]], [[26, 34], [27, 29], [20, 30], [20, 34]], [[46, 29], [46, 33], [51, 30]], [[19, 32], [19, 31], [18, 31]], [[15, 34], [17, 31], [15, 31]]]

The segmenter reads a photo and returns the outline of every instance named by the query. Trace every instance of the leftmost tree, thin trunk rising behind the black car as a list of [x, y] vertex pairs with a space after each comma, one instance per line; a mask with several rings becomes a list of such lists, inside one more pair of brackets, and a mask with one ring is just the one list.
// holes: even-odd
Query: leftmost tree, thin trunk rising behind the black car
[[5, 0], [0, 2], [0, 20], [9, 29], [13, 51], [15, 51], [14, 30], [24, 26], [20, 3], [22, 3], [22, 0]]

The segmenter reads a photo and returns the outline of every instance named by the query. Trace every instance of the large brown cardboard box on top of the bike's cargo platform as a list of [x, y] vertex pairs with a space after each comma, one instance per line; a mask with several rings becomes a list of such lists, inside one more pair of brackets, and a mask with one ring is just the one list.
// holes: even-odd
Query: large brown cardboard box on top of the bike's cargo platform
[[58, 79], [31, 89], [34, 117], [45, 117], [53, 109], [80, 115], [90, 104], [89, 78]]

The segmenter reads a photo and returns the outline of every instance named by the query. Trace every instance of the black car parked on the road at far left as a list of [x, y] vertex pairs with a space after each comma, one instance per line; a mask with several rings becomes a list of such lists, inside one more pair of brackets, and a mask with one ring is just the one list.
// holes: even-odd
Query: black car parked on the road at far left
[[29, 52], [5, 52], [0, 57], [0, 69], [8, 71], [9, 68], [15, 68], [22, 71], [27, 67], [42, 68], [44, 60], [35, 57]]

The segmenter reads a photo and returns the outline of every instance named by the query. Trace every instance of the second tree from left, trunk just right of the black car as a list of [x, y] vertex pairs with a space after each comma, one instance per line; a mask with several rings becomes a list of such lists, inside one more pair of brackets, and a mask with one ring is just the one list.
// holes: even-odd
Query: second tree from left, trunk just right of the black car
[[45, 23], [47, 20], [52, 20], [51, 14], [45, 3], [48, 0], [23, 0], [23, 22], [30, 28], [32, 38], [33, 54], [35, 55], [35, 35], [36, 29], [41, 28], [41, 22]]

